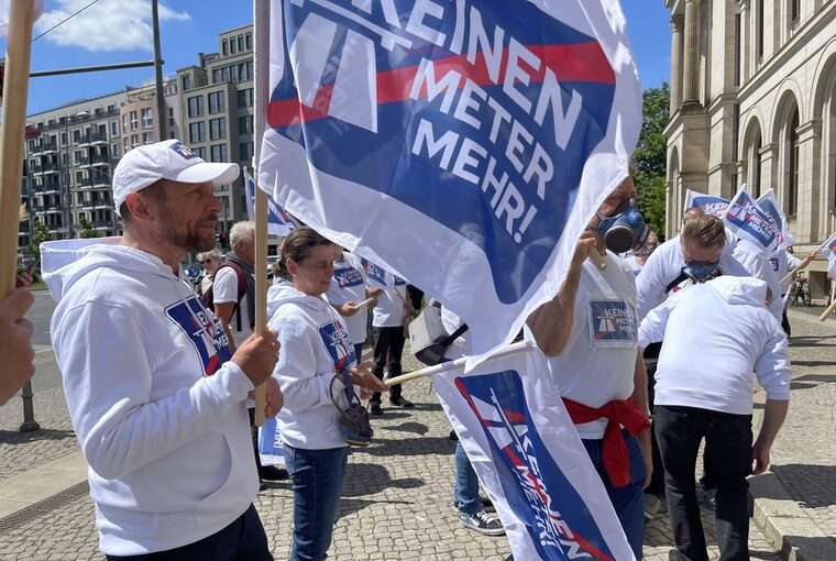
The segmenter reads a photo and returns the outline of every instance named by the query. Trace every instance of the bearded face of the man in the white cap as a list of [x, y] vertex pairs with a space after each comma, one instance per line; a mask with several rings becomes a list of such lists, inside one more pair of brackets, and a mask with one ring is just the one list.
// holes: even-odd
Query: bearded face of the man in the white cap
[[221, 206], [215, 196], [212, 183], [161, 180], [164, 182], [165, 197], [161, 200], [144, 198], [154, 215], [157, 234], [184, 252], [201, 252], [215, 248], [215, 227]]

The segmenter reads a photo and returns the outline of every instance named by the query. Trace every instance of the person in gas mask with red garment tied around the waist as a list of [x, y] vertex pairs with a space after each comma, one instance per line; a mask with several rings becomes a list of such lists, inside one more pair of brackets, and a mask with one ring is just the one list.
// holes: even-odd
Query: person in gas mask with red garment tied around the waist
[[[604, 200], [558, 294], [529, 316], [527, 329], [550, 356], [552, 381], [640, 560], [651, 473], [647, 374], [638, 350], [635, 277], [616, 254], [629, 248], [607, 243], [615, 227], [619, 237], [631, 232], [634, 249], [644, 243], [647, 227], [635, 199], [628, 177]], [[592, 250], [603, 254], [603, 270], [588, 258]]]

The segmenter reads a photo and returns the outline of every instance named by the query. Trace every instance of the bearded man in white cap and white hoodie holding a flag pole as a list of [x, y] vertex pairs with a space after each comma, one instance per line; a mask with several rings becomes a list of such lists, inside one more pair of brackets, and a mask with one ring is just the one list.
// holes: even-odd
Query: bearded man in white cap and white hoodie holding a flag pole
[[42, 246], [58, 300], [53, 346], [108, 559], [273, 559], [252, 505], [245, 400], [266, 381], [266, 414], [282, 407], [270, 377], [276, 334], [232, 354], [180, 272], [187, 252], [213, 246], [213, 187], [238, 174], [179, 141], [134, 148], [113, 173], [124, 235]]

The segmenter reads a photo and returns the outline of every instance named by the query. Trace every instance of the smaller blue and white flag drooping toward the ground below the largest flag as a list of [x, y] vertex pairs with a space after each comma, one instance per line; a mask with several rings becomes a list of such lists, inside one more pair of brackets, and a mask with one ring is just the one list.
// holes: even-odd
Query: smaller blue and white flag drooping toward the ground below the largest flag
[[635, 559], [537, 350], [432, 378], [514, 559]]

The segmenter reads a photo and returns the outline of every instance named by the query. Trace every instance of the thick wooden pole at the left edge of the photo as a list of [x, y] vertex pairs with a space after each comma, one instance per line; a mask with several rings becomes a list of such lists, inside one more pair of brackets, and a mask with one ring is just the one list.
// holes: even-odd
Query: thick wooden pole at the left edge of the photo
[[34, 0], [10, 2], [0, 125], [0, 298], [14, 290]]

